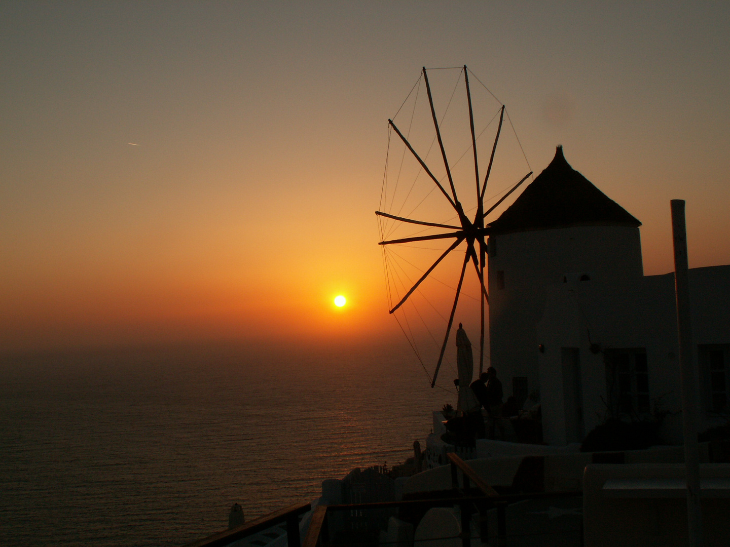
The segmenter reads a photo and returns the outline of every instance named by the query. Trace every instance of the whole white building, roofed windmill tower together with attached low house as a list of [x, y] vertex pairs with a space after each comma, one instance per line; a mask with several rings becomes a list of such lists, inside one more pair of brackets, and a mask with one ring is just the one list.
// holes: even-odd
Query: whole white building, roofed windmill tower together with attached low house
[[[644, 276], [640, 225], [562, 147], [489, 225], [491, 364], [506, 395], [539, 389], [550, 444], [610, 415], [646, 418], [657, 400], [680, 410], [674, 274]], [[702, 431], [729, 414], [730, 265], [689, 280]], [[667, 441], [680, 422], [665, 420]]]

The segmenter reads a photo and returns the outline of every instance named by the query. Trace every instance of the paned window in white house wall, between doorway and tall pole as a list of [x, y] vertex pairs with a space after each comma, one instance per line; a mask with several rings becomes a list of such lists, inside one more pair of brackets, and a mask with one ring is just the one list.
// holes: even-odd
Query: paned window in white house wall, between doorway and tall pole
[[608, 404], [613, 416], [649, 414], [649, 369], [645, 348], [605, 353]]

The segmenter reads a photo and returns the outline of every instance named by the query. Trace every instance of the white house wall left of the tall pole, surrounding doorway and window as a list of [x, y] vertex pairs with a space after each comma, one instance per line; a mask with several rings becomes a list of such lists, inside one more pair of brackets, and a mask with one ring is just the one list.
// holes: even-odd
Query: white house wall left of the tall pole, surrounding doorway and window
[[[545, 441], [564, 444], [582, 440], [566, 438], [561, 367], [564, 347], [575, 347], [580, 354], [584, 432], [593, 430], [609, 413], [607, 350], [645, 348], [650, 396], [666, 394], [663, 403], [677, 406], [679, 393], [666, 377], [678, 353], [676, 319], [673, 324], [671, 321], [675, 317], [673, 282], [670, 275], [548, 287], [545, 313], [537, 325], [539, 344], [545, 348], [538, 358]], [[591, 349], [591, 344], [596, 346]]]

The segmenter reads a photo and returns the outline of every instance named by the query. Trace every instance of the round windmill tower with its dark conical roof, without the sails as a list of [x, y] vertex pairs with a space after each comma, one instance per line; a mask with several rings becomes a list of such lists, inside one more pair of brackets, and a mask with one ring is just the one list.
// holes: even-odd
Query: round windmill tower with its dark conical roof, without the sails
[[640, 225], [575, 171], [560, 146], [487, 225], [491, 363], [505, 392], [510, 383], [523, 396], [539, 389], [536, 326], [548, 285], [643, 276]]

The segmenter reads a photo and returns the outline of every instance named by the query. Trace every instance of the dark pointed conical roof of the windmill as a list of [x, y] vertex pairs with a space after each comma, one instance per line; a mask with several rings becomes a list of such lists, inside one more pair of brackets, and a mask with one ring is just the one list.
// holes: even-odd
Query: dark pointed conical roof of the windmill
[[586, 225], [639, 227], [641, 222], [575, 171], [558, 146], [550, 165], [488, 226], [491, 233], [510, 233]]

